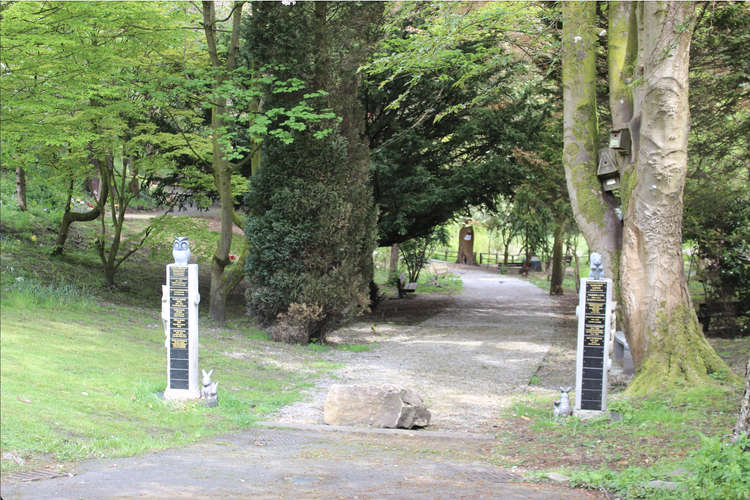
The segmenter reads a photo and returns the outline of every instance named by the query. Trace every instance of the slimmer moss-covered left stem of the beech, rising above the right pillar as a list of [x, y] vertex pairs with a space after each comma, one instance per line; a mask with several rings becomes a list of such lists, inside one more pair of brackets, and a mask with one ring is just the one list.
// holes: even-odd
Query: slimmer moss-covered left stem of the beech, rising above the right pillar
[[599, 126], [596, 113], [595, 2], [563, 2], [563, 166], [573, 214], [604, 274], [618, 275], [621, 224], [613, 196], [596, 176]]

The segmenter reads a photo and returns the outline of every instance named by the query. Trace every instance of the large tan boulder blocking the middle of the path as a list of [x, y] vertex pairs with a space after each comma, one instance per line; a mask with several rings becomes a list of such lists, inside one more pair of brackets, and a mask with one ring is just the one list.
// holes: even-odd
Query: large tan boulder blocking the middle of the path
[[335, 384], [328, 391], [323, 420], [328, 425], [411, 429], [429, 425], [430, 412], [409, 389], [391, 384]]

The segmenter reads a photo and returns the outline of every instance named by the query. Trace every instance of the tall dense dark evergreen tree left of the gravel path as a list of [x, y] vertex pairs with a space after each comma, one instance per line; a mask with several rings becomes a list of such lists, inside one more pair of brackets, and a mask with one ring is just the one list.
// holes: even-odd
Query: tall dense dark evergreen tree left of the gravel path
[[[268, 139], [251, 182], [248, 308], [265, 324], [282, 319], [279, 340], [323, 341], [369, 303], [376, 218], [357, 68], [381, 13], [382, 4], [259, 4], [245, 33], [246, 58], [324, 90], [338, 116], [300, 126], [292, 142]], [[271, 93], [265, 105], [294, 98]]]

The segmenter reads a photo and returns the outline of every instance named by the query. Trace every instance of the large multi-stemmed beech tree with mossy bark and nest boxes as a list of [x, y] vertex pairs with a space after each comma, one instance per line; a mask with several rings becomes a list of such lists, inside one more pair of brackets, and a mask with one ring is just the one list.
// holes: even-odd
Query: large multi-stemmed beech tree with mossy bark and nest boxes
[[728, 372], [703, 336], [683, 272], [682, 208], [689, 131], [688, 66], [694, 4], [608, 4], [612, 128], [628, 128], [618, 200], [596, 176], [596, 4], [563, 4], [564, 148], [568, 190], [589, 248], [619, 277], [638, 375], [632, 393]]

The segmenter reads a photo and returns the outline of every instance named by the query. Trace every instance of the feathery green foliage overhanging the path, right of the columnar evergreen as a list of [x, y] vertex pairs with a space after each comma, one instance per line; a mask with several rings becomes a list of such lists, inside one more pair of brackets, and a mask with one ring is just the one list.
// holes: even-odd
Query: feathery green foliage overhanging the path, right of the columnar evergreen
[[514, 38], [536, 11], [404, 4], [390, 17], [363, 92], [380, 245], [494, 207], [523, 180], [516, 153], [538, 148], [550, 103], [542, 76], [510, 46], [537, 43]]

